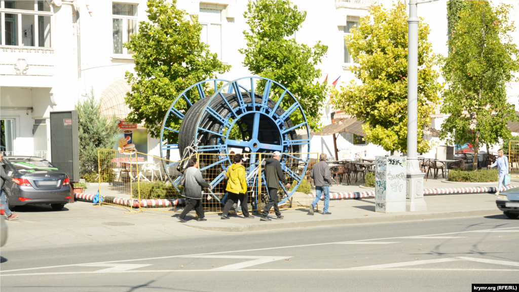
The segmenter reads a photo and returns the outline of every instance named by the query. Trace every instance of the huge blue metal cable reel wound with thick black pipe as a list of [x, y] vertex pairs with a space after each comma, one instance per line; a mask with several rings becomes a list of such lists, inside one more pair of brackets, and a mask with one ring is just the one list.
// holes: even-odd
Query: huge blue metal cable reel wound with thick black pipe
[[[218, 82], [223, 82], [223, 86], [218, 88]], [[263, 92], [255, 92], [258, 82], [264, 84]], [[206, 96], [205, 91], [210, 87], [208, 85], [212, 85], [211, 89], [214, 92], [211, 96]], [[186, 92], [194, 87], [201, 98], [193, 103]], [[252, 96], [254, 98], [251, 98]], [[181, 98], [189, 105], [185, 113], [175, 108]], [[291, 120], [294, 113], [303, 120], [295, 126]], [[180, 130], [168, 127], [170, 119], [182, 120]], [[238, 127], [241, 139], [229, 138], [230, 129], [233, 127]], [[286, 190], [283, 185], [285, 195], [280, 203], [284, 203], [301, 184], [309, 164], [310, 154], [299, 154], [299, 152], [304, 145], [307, 145], [307, 152], [310, 152], [310, 140], [297, 139], [295, 130], [299, 128], [304, 129], [307, 137], [310, 137], [310, 128], [301, 104], [281, 84], [263, 77], [243, 77], [231, 82], [224, 79], [210, 79], [190, 86], [171, 105], [162, 125], [161, 155], [163, 157], [164, 150], [168, 149], [179, 149], [180, 155], [185, 158], [196, 152], [227, 154], [230, 152], [229, 148], [241, 148], [242, 153], [250, 153], [250, 159], [244, 165], [247, 167], [249, 188], [254, 186], [255, 190], [251, 189], [251, 191], [257, 194], [258, 176], [262, 174], [257, 173], [260, 161], [257, 157], [259, 155], [255, 153], [279, 151], [284, 154], [281, 159], [283, 171], [288, 175], [289, 181], [296, 184], [291, 191]], [[176, 132], [178, 143], [165, 142], [165, 131]], [[225, 170], [225, 165], [228, 167], [232, 162], [228, 155], [211, 157], [214, 157], [212, 161], [205, 161], [204, 165], [199, 167], [202, 172], [217, 174], [212, 177], [206, 176], [214, 187], [223, 182], [222, 171]], [[185, 165], [165, 163], [164, 166], [176, 187], [180, 177], [179, 170], [182, 170]], [[264, 178], [262, 184], [265, 184]], [[210, 192], [220, 201], [217, 194], [211, 190]]]

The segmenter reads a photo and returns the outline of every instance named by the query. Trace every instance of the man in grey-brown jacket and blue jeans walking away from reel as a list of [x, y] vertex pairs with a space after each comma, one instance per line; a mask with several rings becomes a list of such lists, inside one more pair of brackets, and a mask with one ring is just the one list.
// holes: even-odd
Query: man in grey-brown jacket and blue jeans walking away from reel
[[319, 162], [313, 165], [310, 171], [310, 177], [313, 179], [313, 183], [316, 185], [316, 198], [313, 199], [312, 204], [308, 207], [308, 211], [313, 215], [313, 208], [317, 206], [317, 203], [324, 194], [324, 208], [323, 215], [330, 215], [328, 206], [330, 205], [330, 185], [332, 184], [332, 177], [330, 175], [330, 166], [326, 162], [327, 155], [321, 153], [319, 155]]

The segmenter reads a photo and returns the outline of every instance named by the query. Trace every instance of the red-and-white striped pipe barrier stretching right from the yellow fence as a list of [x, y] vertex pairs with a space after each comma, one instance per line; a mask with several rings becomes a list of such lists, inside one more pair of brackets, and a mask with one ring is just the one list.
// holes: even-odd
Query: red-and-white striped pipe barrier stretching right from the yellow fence
[[[507, 185], [503, 187], [504, 190], [517, 188], [517, 185]], [[428, 189], [424, 190], [424, 195], [434, 194], [468, 194], [468, 193], [495, 193], [496, 187], [489, 188], [449, 188], [449, 189]], [[308, 194], [311, 197], [316, 197], [315, 194]], [[345, 198], [363, 198], [363, 197], [374, 197], [375, 192], [355, 192], [355, 193], [330, 193], [330, 200], [341, 200]], [[324, 198], [324, 195], [321, 196]]]

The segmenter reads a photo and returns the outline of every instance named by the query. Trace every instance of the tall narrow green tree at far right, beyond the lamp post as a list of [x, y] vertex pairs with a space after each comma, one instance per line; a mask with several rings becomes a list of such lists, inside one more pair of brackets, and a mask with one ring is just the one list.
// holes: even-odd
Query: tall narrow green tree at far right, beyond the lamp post
[[519, 51], [512, 43], [509, 5], [492, 7], [484, 0], [468, 0], [448, 41], [450, 54], [443, 75], [448, 84], [442, 112], [441, 139], [449, 143], [470, 142], [477, 168], [480, 145], [510, 139], [508, 121], [517, 121], [506, 87], [516, 82]]

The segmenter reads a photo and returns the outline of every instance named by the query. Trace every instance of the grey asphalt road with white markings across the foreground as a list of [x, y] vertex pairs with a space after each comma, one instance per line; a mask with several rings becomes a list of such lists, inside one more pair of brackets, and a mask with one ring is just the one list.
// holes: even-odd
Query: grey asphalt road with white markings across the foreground
[[0, 291], [471, 291], [519, 283], [519, 220], [467, 217], [0, 249]]

